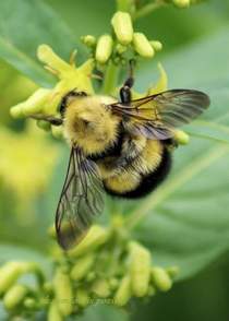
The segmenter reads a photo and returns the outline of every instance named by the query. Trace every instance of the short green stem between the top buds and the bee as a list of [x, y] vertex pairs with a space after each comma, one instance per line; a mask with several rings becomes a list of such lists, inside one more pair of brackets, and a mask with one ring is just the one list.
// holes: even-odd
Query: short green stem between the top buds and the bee
[[111, 95], [114, 92], [118, 76], [119, 76], [119, 66], [114, 64], [112, 61], [109, 61], [106, 73], [105, 73], [104, 84], [103, 84], [101, 92], [104, 94]]

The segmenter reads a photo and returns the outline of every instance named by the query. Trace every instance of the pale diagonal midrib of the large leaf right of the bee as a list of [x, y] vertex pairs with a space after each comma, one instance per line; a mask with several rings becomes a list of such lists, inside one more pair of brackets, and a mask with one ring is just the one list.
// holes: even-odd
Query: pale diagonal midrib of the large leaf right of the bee
[[125, 226], [133, 229], [141, 221], [143, 221], [156, 206], [161, 204], [173, 192], [180, 189], [190, 179], [198, 173], [210, 166], [217, 159], [228, 154], [228, 146], [221, 145], [212, 148], [208, 153], [197, 158], [192, 165], [185, 167], [179, 175], [171, 179], [167, 185], [164, 185], [143, 204], [141, 204], [125, 221]]

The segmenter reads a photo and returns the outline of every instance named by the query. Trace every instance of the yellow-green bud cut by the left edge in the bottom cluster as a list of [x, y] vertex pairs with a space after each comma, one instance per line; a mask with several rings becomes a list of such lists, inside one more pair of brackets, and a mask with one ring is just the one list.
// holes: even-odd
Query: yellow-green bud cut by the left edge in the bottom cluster
[[24, 272], [23, 262], [9, 262], [0, 270], [0, 295], [5, 293]]

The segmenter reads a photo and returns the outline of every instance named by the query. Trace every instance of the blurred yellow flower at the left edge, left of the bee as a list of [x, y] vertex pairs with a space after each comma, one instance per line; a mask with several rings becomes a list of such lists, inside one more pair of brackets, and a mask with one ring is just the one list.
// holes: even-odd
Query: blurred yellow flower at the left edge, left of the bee
[[[15, 198], [16, 213], [23, 213], [23, 222], [29, 221], [33, 217], [33, 201], [50, 180], [59, 153], [58, 146], [51, 144], [31, 121], [23, 132], [13, 132], [2, 127], [0, 141], [0, 188], [7, 189], [11, 198]], [[48, 157], [40, 157], [43, 154]]]

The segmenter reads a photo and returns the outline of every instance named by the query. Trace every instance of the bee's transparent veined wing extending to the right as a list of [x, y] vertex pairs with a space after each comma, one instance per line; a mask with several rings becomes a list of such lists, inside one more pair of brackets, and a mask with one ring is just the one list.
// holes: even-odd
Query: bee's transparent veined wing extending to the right
[[172, 90], [136, 100], [112, 104], [113, 112], [124, 116], [125, 129], [149, 139], [165, 140], [172, 129], [189, 123], [209, 106], [206, 94], [192, 90]]

